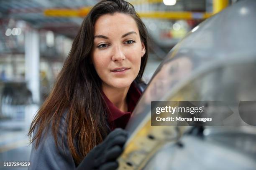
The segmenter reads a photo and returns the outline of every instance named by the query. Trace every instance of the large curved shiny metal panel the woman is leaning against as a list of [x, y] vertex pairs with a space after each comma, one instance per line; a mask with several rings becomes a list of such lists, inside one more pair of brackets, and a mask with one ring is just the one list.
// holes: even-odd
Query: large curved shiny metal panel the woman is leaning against
[[[227, 146], [241, 144], [240, 137], [248, 130], [241, 133], [241, 127], [205, 127], [199, 138], [188, 135], [186, 126], [151, 126], [150, 112], [153, 100], [215, 100], [231, 105], [234, 118], [229, 121], [237, 120], [239, 102], [256, 101], [255, 9], [256, 1], [239, 1], [194, 28], [169, 52], [127, 125], [131, 136], [119, 159], [120, 169], [256, 169], [256, 149], [241, 153], [241, 147]], [[256, 115], [252, 116], [249, 118], [255, 119]], [[217, 135], [209, 135], [212, 129]], [[255, 146], [256, 128], [251, 131], [246, 141]], [[174, 145], [178, 140], [183, 150]]]

